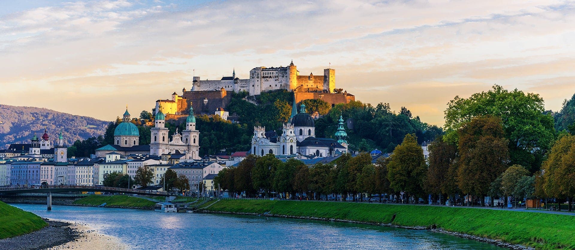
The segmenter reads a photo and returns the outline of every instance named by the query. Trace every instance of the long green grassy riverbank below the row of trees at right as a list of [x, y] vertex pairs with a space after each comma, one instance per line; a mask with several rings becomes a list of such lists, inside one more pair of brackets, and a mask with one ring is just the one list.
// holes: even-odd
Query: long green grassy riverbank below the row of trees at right
[[537, 249], [575, 249], [575, 216], [464, 207], [369, 203], [222, 200], [209, 211], [335, 218], [401, 226], [437, 225], [452, 232], [499, 239]]

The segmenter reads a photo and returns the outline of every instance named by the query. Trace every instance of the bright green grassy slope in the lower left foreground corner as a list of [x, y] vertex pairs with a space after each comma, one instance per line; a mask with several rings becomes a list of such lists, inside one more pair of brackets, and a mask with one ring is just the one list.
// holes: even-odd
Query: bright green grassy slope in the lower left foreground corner
[[30, 233], [47, 225], [40, 216], [0, 201], [0, 239]]

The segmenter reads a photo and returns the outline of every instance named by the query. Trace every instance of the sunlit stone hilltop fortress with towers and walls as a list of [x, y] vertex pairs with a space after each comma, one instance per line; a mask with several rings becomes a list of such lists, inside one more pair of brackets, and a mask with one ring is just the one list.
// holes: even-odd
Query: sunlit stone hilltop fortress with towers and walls
[[156, 110], [162, 105], [167, 119], [170, 115], [187, 115], [190, 105], [196, 114], [214, 114], [219, 109], [227, 108], [231, 101], [229, 91], [239, 93], [246, 91], [250, 96], [274, 90], [293, 91], [296, 102], [305, 99], [321, 99], [331, 106], [338, 103], [355, 101], [352, 94], [332, 93], [335, 87], [335, 70], [324, 69], [323, 75], [300, 75], [293, 61], [286, 67], [256, 67], [250, 70], [250, 78], [239, 79], [236, 71], [232, 76], [224, 76], [220, 80], [201, 80], [194, 76], [190, 91], [182, 90], [182, 95], [173, 93], [171, 99], [156, 101]]

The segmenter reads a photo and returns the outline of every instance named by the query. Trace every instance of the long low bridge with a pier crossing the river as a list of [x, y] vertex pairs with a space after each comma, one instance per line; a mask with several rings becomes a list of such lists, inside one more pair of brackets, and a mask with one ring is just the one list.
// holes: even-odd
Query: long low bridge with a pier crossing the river
[[70, 186], [70, 185], [43, 185], [43, 186], [21, 186], [21, 187], [0, 187], [0, 194], [20, 194], [20, 193], [47, 193], [48, 210], [52, 210], [52, 193], [62, 192], [106, 192], [106, 193], [124, 193], [139, 195], [154, 195], [163, 197], [174, 197], [175, 195], [161, 191], [123, 189], [121, 187], [103, 187], [103, 186]]

